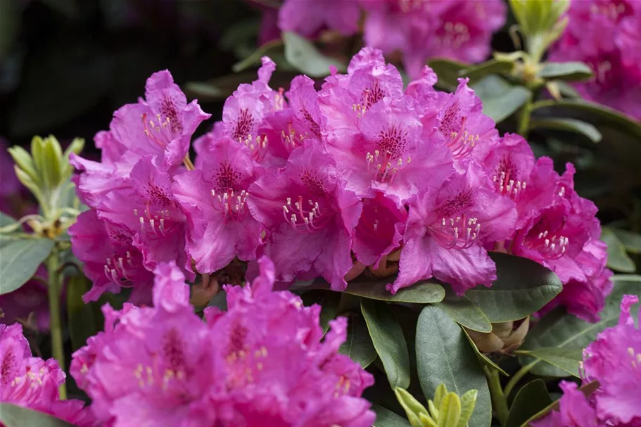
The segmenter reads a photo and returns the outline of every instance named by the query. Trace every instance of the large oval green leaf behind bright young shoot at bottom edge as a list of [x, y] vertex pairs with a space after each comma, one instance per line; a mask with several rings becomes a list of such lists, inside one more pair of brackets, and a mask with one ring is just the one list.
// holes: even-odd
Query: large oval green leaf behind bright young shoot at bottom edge
[[460, 326], [433, 305], [421, 311], [416, 336], [417, 369], [421, 390], [431, 399], [441, 383], [457, 395], [477, 390], [470, 426], [489, 426], [490, 390], [481, 363]]

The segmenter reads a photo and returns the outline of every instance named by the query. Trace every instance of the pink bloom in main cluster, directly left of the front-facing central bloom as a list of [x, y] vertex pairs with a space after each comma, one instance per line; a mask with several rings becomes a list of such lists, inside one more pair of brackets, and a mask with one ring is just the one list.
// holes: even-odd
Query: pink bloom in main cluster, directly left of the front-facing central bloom
[[189, 217], [188, 252], [201, 273], [234, 257], [255, 260], [262, 226], [247, 208], [248, 189], [262, 168], [249, 148], [224, 138], [199, 154], [196, 170], [174, 177], [174, 196]]

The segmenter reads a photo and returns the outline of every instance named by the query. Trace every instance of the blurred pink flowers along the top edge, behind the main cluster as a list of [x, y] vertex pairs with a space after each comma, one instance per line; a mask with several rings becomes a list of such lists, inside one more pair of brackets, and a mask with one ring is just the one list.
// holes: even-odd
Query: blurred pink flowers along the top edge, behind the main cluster
[[[428, 58], [481, 62], [507, 18], [501, 0], [285, 0], [278, 26], [305, 37], [325, 29], [351, 35], [360, 29], [362, 12], [364, 44], [386, 54], [400, 51], [412, 77]], [[272, 19], [267, 15], [264, 25]]]

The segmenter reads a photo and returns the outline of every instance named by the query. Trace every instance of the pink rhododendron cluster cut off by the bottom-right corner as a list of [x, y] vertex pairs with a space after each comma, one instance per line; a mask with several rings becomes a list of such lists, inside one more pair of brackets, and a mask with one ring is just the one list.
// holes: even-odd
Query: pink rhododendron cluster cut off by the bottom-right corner
[[559, 411], [536, 427], [641, 426], [641, 329], [630, 315], [638, 301], [624, 295], [618, 325], [599, 333], [583, 351], [583, 381], [598, 381], [595, 393], [586, 398], [575, 383], [561, 382]]

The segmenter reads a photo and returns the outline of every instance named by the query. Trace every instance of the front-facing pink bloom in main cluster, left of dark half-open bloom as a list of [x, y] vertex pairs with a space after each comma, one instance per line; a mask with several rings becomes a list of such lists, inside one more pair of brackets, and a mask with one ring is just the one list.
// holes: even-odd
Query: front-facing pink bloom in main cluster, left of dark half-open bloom
[[306, 141], [284, 169], [260, 177], [249, 192], [250, 212], [270, 233], [265, 254], [274, 260], [279, 281], [320, 275], [336, 290], [347, 286], [362, 204], [345, 189], [334, 158], [319, 143]]

